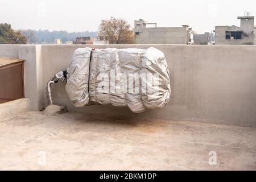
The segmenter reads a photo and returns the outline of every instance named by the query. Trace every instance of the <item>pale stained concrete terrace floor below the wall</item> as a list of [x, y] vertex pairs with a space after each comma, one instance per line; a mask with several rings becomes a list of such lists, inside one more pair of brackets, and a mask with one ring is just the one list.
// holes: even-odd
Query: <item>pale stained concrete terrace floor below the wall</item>
[[256, 170], [256, 128], [199, 122], [30, 111], [0, 122], [0, 147], [2, 170]]

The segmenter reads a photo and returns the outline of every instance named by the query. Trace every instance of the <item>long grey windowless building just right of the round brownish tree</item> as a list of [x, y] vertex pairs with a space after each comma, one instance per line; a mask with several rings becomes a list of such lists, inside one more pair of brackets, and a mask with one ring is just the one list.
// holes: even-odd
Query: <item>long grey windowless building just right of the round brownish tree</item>
[[[148, 24], [155, 27], [147, 27]], [[156, 23], [147, 23], [143, 19], [134, 21], [137, 44], [193, 44], [192, 28], [157, 27]]]

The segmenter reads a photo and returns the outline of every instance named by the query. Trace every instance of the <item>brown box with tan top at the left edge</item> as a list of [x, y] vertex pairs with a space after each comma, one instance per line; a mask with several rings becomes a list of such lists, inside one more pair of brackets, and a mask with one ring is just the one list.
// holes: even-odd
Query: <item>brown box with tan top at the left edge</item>
[[0, 104], [24, 98], [23, 61], [0, 57]]

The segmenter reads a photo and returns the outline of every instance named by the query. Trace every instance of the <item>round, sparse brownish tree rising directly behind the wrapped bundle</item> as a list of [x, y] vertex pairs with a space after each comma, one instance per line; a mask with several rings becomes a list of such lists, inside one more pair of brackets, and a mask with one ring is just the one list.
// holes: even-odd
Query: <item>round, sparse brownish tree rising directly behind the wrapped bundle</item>
[[135, 42], [134, 31], [124, 19], [101, 20], [98, 36], [109, 44], [133, 44]]

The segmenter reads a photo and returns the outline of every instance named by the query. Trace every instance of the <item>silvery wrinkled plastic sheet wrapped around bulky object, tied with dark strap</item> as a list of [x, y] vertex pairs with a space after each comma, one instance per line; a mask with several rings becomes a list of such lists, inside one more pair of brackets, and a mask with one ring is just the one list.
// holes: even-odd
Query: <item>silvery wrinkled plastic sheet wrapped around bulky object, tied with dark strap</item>
[[128, 106], [134, 113], [141, 113], [163, 107], [170, 100], [166, 59], [153, 47], [79, 48], [67, 73], [66, 91], [77, 107], [97, 102]]

